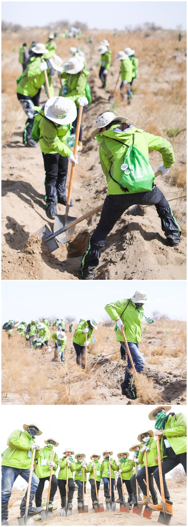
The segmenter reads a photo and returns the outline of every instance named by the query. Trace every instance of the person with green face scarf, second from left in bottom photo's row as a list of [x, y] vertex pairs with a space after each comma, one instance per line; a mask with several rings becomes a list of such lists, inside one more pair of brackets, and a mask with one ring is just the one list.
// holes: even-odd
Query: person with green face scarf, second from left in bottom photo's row
[[[40, 507], [42, 503], [42, 495], [44, 490], [45, 481], [50, 480], [51, 466], [53, 466], [52, 471], [52, 482], [51, 482], [51, 491], [50, 491], [50, 500], [48, 509], [50, 511], [55, 511], [57, 509], [56, 505], [53, 505], [54, 496], [57, 490], [57, 478], [55, 472], [58, 467], [58, 455], [55, 453], [54, 461], [52, 461], [53, 449], [55, 446], [58, 446], [59, 443], [55, 441], [53, 437], [48, 437], [45, 441], [43, 448], [39, 450], [39, 456], [37, 456], [34, 464], [35, 475], [39, 478], [39, 483], [37, 490], [35, 492], [35, 503], [36, 507]], [[37, 514], [35, 521], [41, 520], [41, 514]]]

